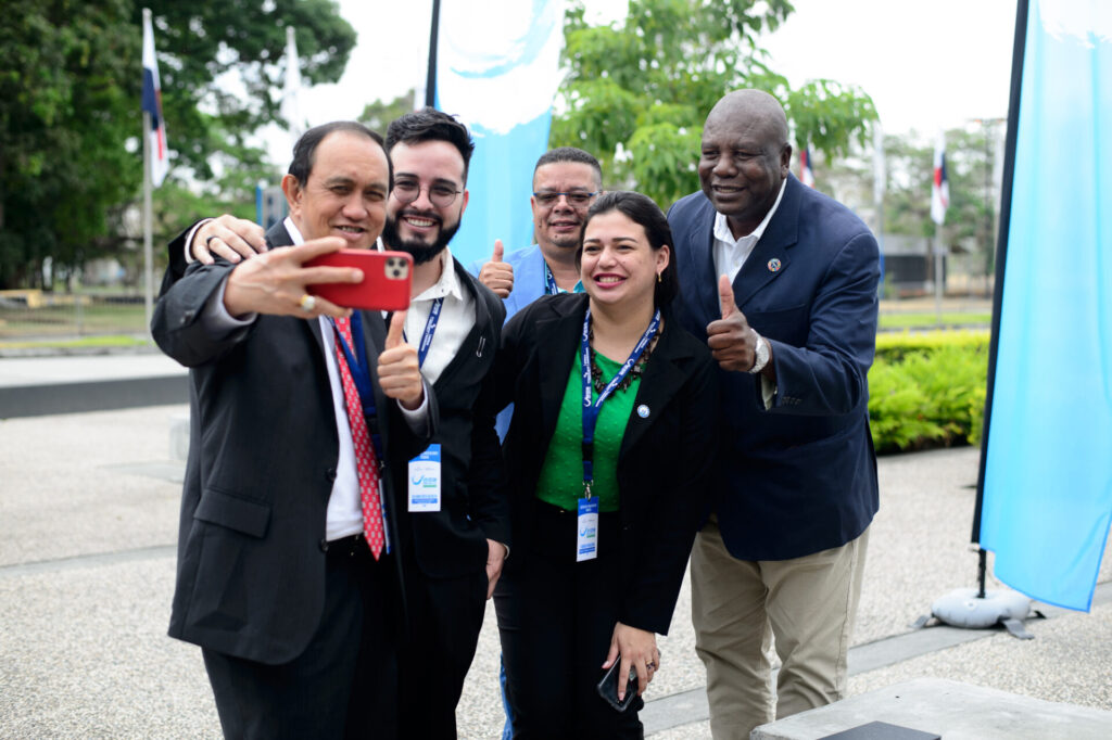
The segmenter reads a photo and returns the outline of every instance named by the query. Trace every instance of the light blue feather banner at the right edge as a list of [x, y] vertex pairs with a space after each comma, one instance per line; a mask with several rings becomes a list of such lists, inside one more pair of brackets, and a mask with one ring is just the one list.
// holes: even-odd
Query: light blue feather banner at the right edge
[[1089, 610], [1112, 520], [1112, 14], [1032, 0], [981, 544]]

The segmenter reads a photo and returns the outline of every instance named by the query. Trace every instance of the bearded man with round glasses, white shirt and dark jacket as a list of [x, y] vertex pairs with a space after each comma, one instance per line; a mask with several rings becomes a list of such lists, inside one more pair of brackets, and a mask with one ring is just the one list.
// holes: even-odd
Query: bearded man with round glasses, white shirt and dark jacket
[[[506, 311], [448, 249], [467, 208], [467, 128], [426, 108], [389, 126], [386, 149], [394, 188], [383, 244], [414, 258], [405, 336], [439, 411], [429, 451], [410, 463], [411, 472], [437, 473], [435, 502], [411, 496], [399, 528], [408, 628], [398, 653], [399, 724], [405, 737], [451, 738], [486, 600], [509, 552], [492, 373]], [[257, 259], [266, 250], [258, 234], [257, 224], [230, 216], [202, 221], [171, 244], [171, 262]]]

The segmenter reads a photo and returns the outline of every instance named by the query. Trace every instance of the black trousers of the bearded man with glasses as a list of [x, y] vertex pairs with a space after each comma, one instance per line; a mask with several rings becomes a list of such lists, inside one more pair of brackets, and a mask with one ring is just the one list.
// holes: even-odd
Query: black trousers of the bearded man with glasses
[[437, 579], [418, 572], [416, 562], [410, 562], [408, 629], [398, 652], [403, 738], [456, 737], [456, 704], [478, 646], [486, 592], [485, 567], [470, 576]]

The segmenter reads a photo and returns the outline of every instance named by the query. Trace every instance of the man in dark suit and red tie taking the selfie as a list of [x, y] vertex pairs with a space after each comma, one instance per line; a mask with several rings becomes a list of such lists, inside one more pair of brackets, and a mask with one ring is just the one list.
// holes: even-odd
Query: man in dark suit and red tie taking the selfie
[[311, 129], [282, 180], [290, 217], [267, 234], [274, 249], [168, 277], [155, 312], [159, 347], [191, 368], [169, 631], [201, 646], [229, 738], [397, 734], [401, 493], [435, 399], [404, 314], [387, 333], [378, 312], [314, 299], [310, 283], [361, 276], [302, 267], [369, 248], [389, 186], [378, 134]]

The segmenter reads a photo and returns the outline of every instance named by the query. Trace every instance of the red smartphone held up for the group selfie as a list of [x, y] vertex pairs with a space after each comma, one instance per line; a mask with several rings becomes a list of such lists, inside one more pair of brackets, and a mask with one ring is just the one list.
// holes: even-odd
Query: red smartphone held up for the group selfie
[[400, 311], [409, 308], [414, 258], [406, 252], [376, 249], [341, 249], [321, 254], [305, 267], [354, 267], [363, 270], [363, 282], [319, 282], [306, 290], [344, 308]]

